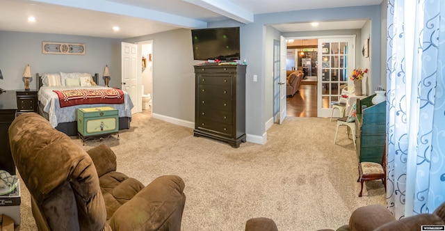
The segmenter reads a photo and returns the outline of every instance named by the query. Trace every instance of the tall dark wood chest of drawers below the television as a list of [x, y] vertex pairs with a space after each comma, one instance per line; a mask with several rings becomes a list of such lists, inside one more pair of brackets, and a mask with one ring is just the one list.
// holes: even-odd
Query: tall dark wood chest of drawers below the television
[[245, 142], [246, 65], [195, 66], [194, 136], [238, 148]]

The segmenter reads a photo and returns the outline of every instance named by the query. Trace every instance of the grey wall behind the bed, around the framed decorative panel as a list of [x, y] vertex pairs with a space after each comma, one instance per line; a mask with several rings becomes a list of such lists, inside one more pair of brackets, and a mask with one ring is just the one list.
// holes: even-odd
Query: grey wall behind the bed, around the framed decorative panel
[[[73, 42], [86, 45], [85, 55], [42, 54], [42, 42]], [[110, 86], [120, 88], [120, 40], [49, 33], [0, 31], [0, 88], [24, 89], [22, 74], [27, 64], [31, 74], [53, 72], [99, 73], [99, 85], [104, 86], [105, 65], [111, 73]], [[35, 77], [30, 83], [35, 89]]]

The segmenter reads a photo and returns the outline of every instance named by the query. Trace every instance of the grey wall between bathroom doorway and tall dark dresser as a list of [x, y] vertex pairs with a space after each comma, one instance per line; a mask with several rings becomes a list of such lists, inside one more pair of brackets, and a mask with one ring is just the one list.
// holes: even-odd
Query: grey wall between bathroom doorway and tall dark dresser
[[177, 29], [125, 42], [153, 41], [152, 113], [164, 120], [193, 127], [195, 122], [195, 70], [190, 29]]

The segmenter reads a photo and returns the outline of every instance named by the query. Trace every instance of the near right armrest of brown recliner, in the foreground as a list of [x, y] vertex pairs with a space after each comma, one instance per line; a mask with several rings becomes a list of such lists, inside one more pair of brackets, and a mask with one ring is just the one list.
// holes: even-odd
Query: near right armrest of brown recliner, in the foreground
[[108, 220], [112, 230], [181, 230], [184, 181], [164, 175], [145, 186]]

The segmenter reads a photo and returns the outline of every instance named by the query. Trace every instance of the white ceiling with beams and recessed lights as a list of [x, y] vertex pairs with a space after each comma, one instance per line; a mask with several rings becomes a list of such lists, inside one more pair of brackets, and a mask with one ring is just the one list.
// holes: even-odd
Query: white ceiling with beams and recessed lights
[[[316, 8], [371, 6], [382, 0], [0, 0], [0, 31], [60, 33], [132, 38], [179, 28], [205, 28], [207, 22]], [[27, 18], [35, 17], [35, 22]], [[273, 25], [282, 32], [359, 29], [366, 21]], [[112, 30], [119, 26], [120, 31]]]

